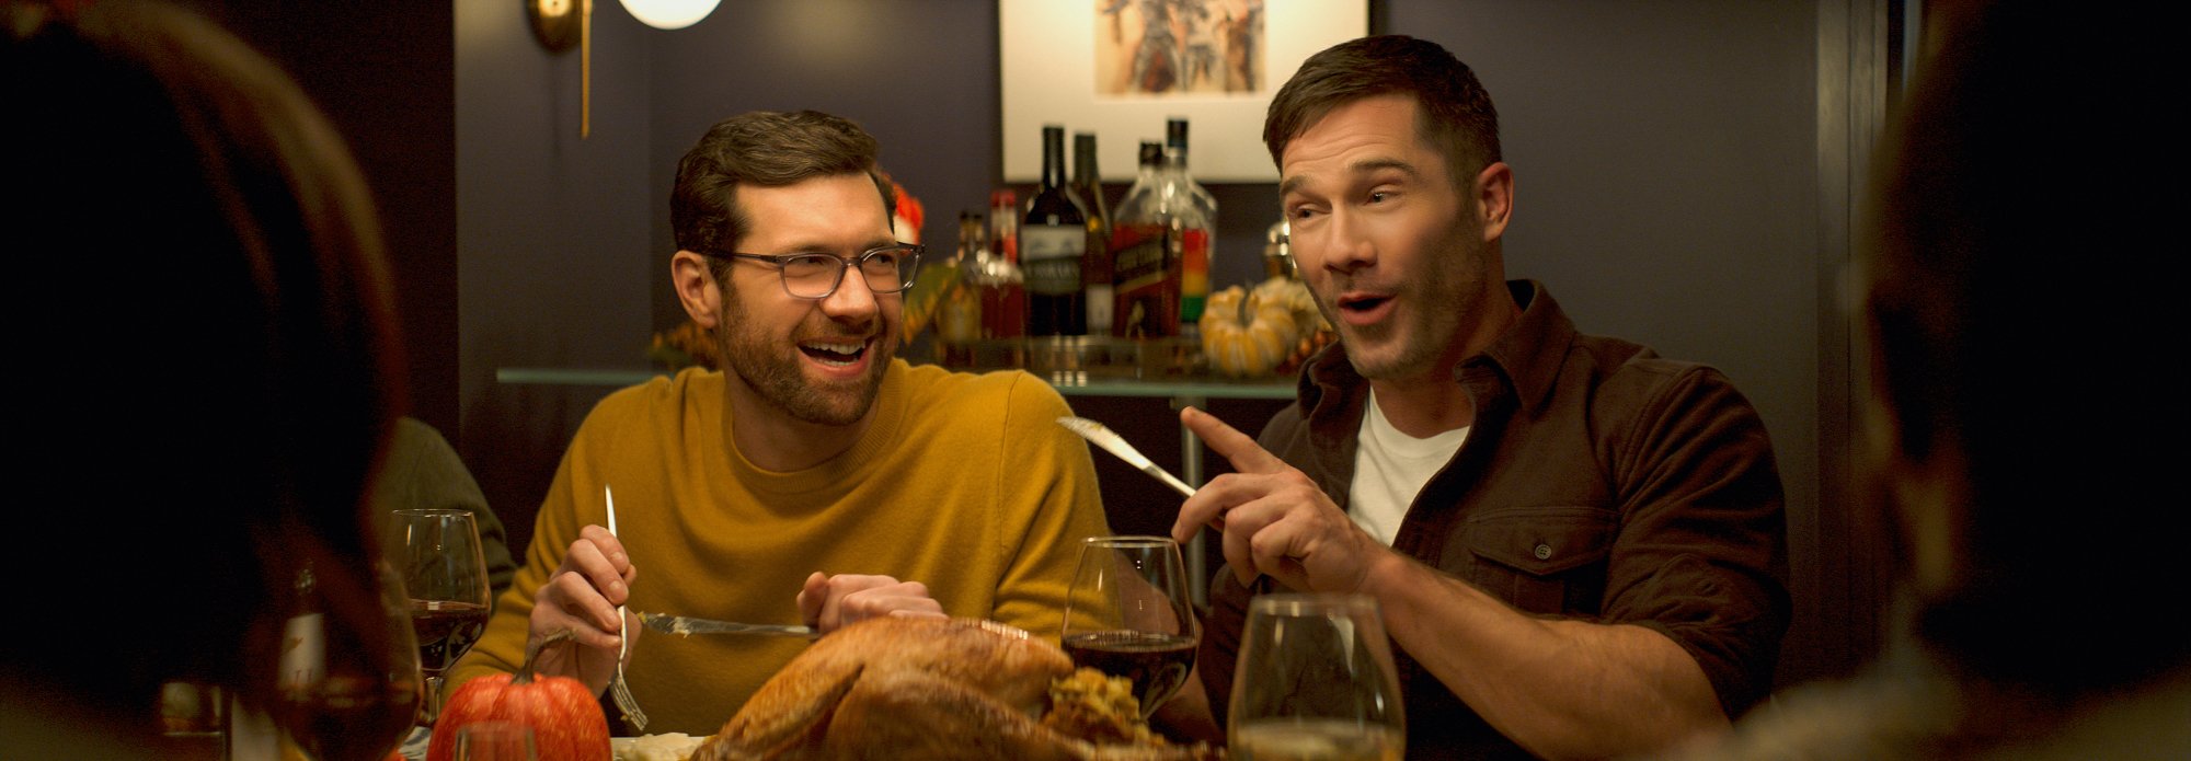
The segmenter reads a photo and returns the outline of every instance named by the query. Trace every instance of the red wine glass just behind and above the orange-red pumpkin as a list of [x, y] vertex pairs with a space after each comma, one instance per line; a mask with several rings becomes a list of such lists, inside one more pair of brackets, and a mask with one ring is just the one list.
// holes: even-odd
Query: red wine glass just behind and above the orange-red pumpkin
[[392, 520], [388, 547], [410, 590], [410, 621], [425, 671], [418, 724], [434, 726], [443, 674], [486, 630], [486, 555], [469, 510], [397, 510]]

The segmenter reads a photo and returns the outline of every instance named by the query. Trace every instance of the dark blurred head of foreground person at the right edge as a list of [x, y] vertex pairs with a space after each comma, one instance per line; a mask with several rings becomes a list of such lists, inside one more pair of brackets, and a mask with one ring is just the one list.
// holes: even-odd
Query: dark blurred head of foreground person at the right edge
[[[2079, 700], [2180, 671], [2191, 582], [2176, 92], [2152, 20], [1932, 9], [1884, 155], [1865, 315], [1873, 472], [1913, 634], [1952, 676]], [[2119, 269], [2121, 267], [2121, 269]]]

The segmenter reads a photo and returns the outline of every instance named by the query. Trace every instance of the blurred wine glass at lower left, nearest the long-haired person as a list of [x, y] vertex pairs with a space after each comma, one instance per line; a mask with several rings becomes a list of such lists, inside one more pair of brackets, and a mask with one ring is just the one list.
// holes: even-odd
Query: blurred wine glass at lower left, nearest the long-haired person
[[418, 717], [418, 641], [403, 577], [377, 562], [379, 614], [342, 610], [370, 590], [357, 579], [298, 575], [305, 610], [289, 619], [280, 654], [280, 728], [320, 761], [381, 761]]

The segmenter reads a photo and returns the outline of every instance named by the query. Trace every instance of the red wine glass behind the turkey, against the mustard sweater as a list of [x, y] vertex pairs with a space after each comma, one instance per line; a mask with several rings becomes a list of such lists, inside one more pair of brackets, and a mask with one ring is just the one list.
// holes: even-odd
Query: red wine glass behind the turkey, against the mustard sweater
[[1183, 566], [1168, 536], [1091, 536], [1065, 599], [1065, 652], [1082, 667], [1131, 680], [1144, 719], [1194, 669], [1201, 621]]

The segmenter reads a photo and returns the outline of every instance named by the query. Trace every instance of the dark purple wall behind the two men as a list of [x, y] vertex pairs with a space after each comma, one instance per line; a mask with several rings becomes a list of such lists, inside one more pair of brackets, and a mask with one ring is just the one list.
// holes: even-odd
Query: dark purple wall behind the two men
[[[1821, 90], [1821, 20], [1834, 9], [1372, 0], [1374, 31], [1442, 42], [1492, 90], [1516, 173], [1510, 276], [1545, 280], [1582, 330], [1718, 365], [1757, 405], [1788, 483], [1792, 680], [1869, 656], [1869, 632], [1843, 621], [1869, 623], [1860, 614], [1880, 601], [1821, 575], [1849, 542], [1821, 531], [1825, 510], [1847, 507], [1821, 488], [1821, 457], [1834, 455], [1821, 440], [1849, 440], [1821, 424], [1821, 398], [1847, 394], [1821, 387], [1845, 374], [1821, 367], [1836, 356], [1834, 241], [1847, 236], [1821, 212], [1821, 103], [1838, 96]], [[578, 55], [543, 52], [515, 0], [456, 7], [462, 450], [513, 534], [526, 534], [563, 444], [605, 389], [502, 385], [495, 367], [646, 367], [646, 337], [684, 319], [666, 284], [666, 206], [675, 160], [708, 125], [800, 107], [859, 120], [927, 206], [931, 245], [949, 243], [957, 210], [986, 206], [1001, 177], [995, 0], [747, 0], [681, 31], [598, 2], [594, 26], [594, 136], [578, 140]], [[1131, 166], [1104, 171], [1115, 199]], [[1218, 284], [1244, 282], [1275, 190], [1212, 190]], [[1137, 442], [1159, 461], [1177, 457], [1166, 405], [1076, 407], [1148, 420]], [[1266, 413], [1231, 411], [1249, 429]], [[1104, 464], [1102, 475], [1122, 525], [1155, 527], [1177, 505], [1131, 470]]]

